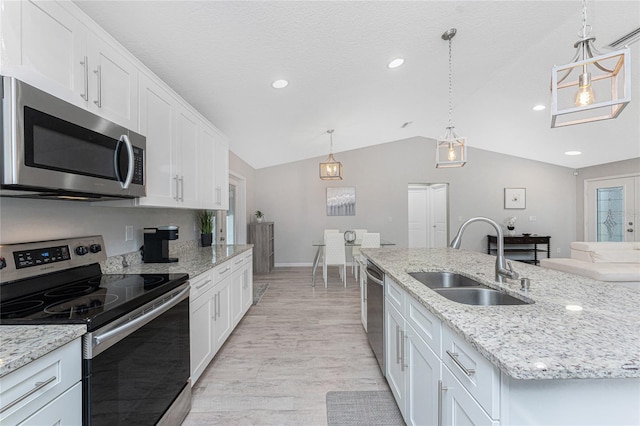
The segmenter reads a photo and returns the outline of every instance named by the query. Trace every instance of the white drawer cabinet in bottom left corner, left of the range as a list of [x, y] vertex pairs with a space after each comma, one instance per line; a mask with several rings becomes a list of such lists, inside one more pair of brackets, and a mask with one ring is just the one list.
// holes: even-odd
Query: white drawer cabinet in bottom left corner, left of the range
[[82, 424], [80, 338], [0, 379], [0, 424]]

